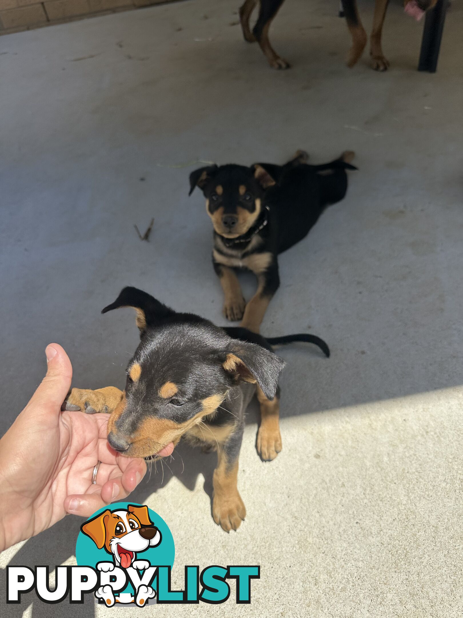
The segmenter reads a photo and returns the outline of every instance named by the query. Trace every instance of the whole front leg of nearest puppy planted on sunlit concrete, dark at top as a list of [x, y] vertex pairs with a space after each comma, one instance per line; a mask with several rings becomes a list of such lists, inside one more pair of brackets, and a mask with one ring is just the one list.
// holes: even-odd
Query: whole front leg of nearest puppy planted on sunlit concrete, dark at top
[[238, 492], [238, 457], [244, 425], [241, 423], [226, 442], [220, 445], [217, 455], [217, 468], [214, 470], [212, 484], [212, 517], [225, 532], [238, 530], [244, 517], [246, 507]]

